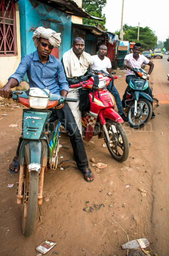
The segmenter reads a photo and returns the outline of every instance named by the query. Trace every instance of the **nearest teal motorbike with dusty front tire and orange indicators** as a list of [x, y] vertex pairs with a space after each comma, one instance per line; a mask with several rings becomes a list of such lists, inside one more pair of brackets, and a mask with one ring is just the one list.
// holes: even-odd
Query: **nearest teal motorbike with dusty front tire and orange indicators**
[[22, 112], [17, 187], [17, 204], [22, 204], [22, 231], [28, 237], [33, 232], [37, 206], [44, 198], [44, 172], [47, 168], [63, 169], [63, 164], [71, 162], [71, 159], [62, 161], [63, 157], [58, 156], [60, 147], [69, 149], [69, 146], [59, 144], [61, 123], [50, 108], [68, 101], [77, 102], [77, 99], [68, 99], [40, 88], [13, 91], [10, 96], [29, 108]]

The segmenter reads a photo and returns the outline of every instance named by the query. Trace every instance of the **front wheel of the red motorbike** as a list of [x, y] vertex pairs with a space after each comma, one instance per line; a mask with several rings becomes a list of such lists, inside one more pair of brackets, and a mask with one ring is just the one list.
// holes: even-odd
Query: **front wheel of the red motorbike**
[[[111, 125], [116, 127], [116, 133], [113, 132]], [[106, 121], [106, 128], [110, 139], [114, 142], [111, 147], [108, 141], [105, 141], [111, 156], [118, 162], [126, 161], [129, 155], [129, 143], [123, 126], [120, 123], [108, 119]], [[104, 135], [106, 136], [105, 133]]]

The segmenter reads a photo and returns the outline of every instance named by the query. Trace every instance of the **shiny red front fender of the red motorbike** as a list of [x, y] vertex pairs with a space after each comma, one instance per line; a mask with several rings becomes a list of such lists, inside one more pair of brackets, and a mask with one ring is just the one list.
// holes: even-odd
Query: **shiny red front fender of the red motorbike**
[[111, 119], [116, 123], [124, 122], [121, 116], [113, 108], [102, 109], [99, 112], [99, 119], [102, 125], [106, 124], [105, 118]]

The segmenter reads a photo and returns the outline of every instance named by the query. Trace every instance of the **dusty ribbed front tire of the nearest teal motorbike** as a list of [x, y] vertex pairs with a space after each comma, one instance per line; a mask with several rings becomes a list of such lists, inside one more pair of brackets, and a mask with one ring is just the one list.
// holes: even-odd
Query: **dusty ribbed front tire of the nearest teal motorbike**
[[25, 184], [27, 184], [26, 191], [29, 191], [29, 193], [28, 193], [28, 201], [27, 201], [27, 198], [25, 197], [25, 202], [23, 202], [22, 232], [25, 237], [29, 237], [33, 232], [36, 213], [37, 213], [39, 173], [35, 170], [30, 171], [29, 173], [27, 170]]

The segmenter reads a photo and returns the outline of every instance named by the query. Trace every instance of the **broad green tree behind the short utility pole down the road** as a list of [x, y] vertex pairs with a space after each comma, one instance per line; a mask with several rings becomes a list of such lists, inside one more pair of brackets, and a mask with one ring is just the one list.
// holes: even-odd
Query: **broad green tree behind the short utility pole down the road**
[[155, 35], [155, 32], [147, 26], [145, 28], [140, 27], [139, 40], [137, 40], [137, 35], [138, 27], [131, 27], [129, 30], [125, 31], [123, 39], [130, 42], [139, 42], [144, 50], [152, 49], [157, 44], [157, 36]]

